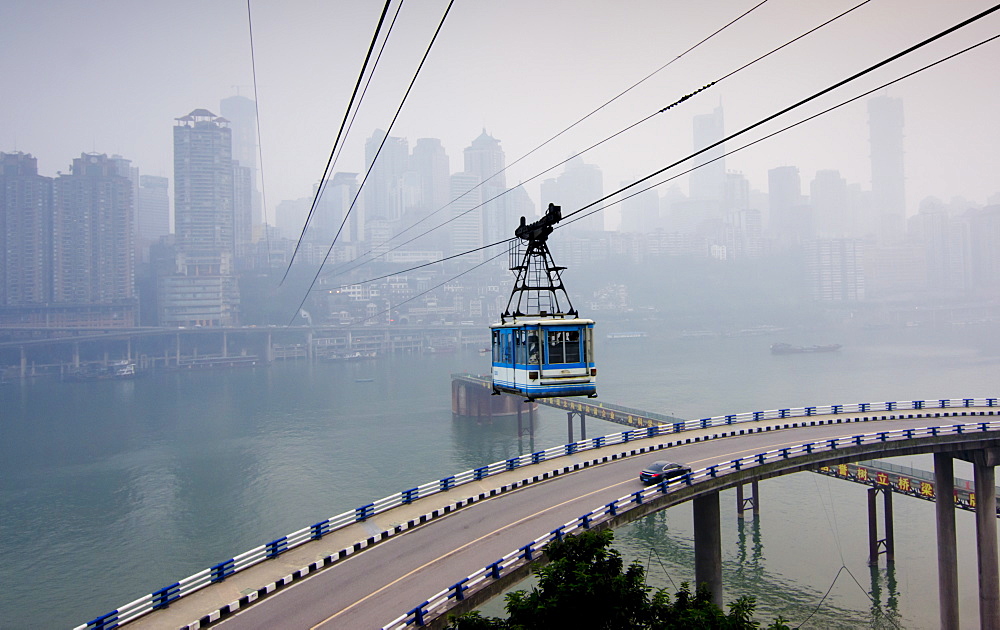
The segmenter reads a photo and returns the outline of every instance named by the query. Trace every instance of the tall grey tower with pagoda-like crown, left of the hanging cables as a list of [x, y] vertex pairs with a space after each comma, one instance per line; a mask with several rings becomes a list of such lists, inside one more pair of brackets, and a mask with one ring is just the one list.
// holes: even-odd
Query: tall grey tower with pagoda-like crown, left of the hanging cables
[[157, 281], [162, 326], [232, 326], [235, 275], [232, 132], [206, 109], [174, 125], [175, 257]]

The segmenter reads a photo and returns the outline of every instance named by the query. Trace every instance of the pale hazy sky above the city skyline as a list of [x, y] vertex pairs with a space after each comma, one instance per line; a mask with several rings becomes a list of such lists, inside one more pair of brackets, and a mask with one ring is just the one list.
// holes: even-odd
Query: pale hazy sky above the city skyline
[[[860, 0], [769, 0], [612, 106], [512, 168], [508, 183], [615, 133]], [[758, 0], [456, 0], [392, 134], [441, 138], [452, 171], [485, 127], [508, 162], [534, 148]], [[378, 0], [251, 0], [268, 214], [319, 179], [382, 7]], [[691, 117], [720, 103], [727, 132], [992, 6], [983, 0], [870, 0], [834, 24], [587, 154], [605, 190], [691, 152]], [[446, 0], [403, 6], [337, 170], [363, 169]], [[394, 4], [395, 7], [395, 4]], [[775, 130], [1000, 33], [1000, 12], [783, 117]], [[242, 0], [0, 2], [0, 151], [34, 154], [43, 174], [81, 152], [118, 153], [173, 178], [174, 118], [239, 90], [253, 96]], [[985, 203], [1000, 191], [1000, 40], [888, 88], [904, 99], [908, 206], [935, 195]], [[753, 139], [762, 135], [749, 136]], [[734, 148], [732, 143], [727, 148]], [[742, 143], [740, 143], [742, 144]], [[870, 186], [864, 100], [727, 158], [766, 190], [799, 167]], [[560, 172], [561, 169], [555, 171]], [[547, 175], [546, 177], [551, 176]], [[687, 180], [678, 180], [686, 190]], [[528, 184], [536, 198], [538, 180]]]

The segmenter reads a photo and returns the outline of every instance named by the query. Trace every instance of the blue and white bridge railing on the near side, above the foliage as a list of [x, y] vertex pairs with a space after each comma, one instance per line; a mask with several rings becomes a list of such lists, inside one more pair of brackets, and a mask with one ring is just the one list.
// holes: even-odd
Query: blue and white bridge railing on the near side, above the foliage
[[425, 617], [428, 615], [437, 614], [441, 609], [449, 608], [452, 600], [461, 601], [464, 599], [465, 593], [469, 589], [482, 585], [484, 582], [499, 580], [515, 568], [520, 568], [524, 562], [530, 562], [535, 557], [540, 555], [544, 551], [545, 546], [549, 543], [555, 540], [561, 540], [563, 536], [566, 536], [567, 534], [590, 529], [591, 526], [608, 520], [623, 511], [632, 509], [635, 506], [641, 505], [659, 496], [668, 495], [671, 492], [677, 491], [679, 488], [686, 488], [694, 485], [699, 481], [717, 478], [748, 468], [763, 466], [764, 464], [773, 463], [777, 460], [787, 460], [798, 455], [835, 451], [839, 448], [860, 446], [864, 444], [871, 444], [873, 442], [896, 442], [901, 440], [912, 440], [920, 437], [957, 435], [977, 432], [981, 433], [998, 430], [1000, 430], [1000, 420], [942, 425], [921, 429], [896, 429], [893, 431], [859, 433], [857, 435], [847, 437], [830, 438], [815, 442], [803, 442], [802, 444], [795, 446], [771, 449], [754, 455], [740, 457], [724, 464], [717, 464], [692, 470], [683, 477], [678, 477], [670, 481], [663, 481], [654, 486], [650, 486], [649, 488], [637, 490], [627, 494], [616, 499], [615, 501], [591, 510], [590, 512], [573, 519], [560, 527], [557, 527], [548, 534], [536, 538], [523, 547], [519, 547], [518, 549], [511, 551], [496, 562], [486, 565], [468, 577], [456, 582], [446, 589], [443, 589], [416, 608], [400, 615], [385, 625], [383, 630], [398, 630], [412, 625], [422, 626], [424, 625]]

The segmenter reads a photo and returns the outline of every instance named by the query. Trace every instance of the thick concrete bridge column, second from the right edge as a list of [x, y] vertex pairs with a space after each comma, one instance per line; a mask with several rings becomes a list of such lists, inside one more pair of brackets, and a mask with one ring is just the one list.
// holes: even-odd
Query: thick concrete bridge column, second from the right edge
[[[941, 630], [958, 630], [958, 548], [955, 538], [955, 501], [945, 488], [955, 487], [955, 460], [934, 454], [934, 511], [938, 535], [938, 605]], [[948, 499], [951, 500], [948, 500]]]

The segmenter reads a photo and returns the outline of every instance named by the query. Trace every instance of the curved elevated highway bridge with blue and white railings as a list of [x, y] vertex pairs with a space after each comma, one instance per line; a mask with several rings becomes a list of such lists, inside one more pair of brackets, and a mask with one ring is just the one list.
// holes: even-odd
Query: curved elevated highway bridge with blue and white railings
[[[663, 423], [496, 462], [407, 489], [219, 563], [80, 628], [402, 628], [439, 625], [516, 583], [567, 533], [614, 527], [685, 501], [695, 576], [722, 601], [719, 491], [875, 457], [935, 454], [975, 464], [979, 505], [996, 504], [997, 399], [861, 403]], [[671, 459], [692, 472], [649, 488], [637, 471]], [[954, 501], [938, 501], [942, 627], [958, 627]], [[980, 626], [1000, 624], [994, 510], [977, 512]], [[971, 544], [971, 542], [969, 543]], [[253, 604], [253, 605], [250, 605]]]

